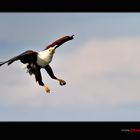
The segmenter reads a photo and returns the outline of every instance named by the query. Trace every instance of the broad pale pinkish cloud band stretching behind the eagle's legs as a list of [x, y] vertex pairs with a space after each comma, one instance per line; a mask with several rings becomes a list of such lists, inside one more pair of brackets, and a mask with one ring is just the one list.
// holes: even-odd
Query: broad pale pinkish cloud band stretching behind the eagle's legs
[[[74, 52], [54, 56], [51, 66], [67, 85], [42, 71], [52, 90], [45, 94], [19, 64], [1, 68], [3, 106], [31, 108], [123, 105], [140, 101], [140, 38], [91, 39]], [[76, 46], [75, 46], [76, 47]]]

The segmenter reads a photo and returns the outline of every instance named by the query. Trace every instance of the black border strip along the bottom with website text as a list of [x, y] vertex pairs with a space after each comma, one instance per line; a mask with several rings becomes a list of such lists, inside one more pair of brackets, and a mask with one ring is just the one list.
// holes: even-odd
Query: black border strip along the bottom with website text
[[0, 132], [12, 132], [20, 138], [136, 140], [140, 139], [140, 122], [0, 122]]

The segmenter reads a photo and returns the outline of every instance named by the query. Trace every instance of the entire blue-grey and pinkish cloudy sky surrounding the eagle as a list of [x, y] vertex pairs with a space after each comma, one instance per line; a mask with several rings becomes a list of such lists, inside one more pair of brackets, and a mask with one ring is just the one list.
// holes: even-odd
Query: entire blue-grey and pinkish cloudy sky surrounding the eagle
[[41, 70], [45, 93], [20, 61], [0, 67], [0, 121], [139, 121], [140, 13], [0, 13], [0, 61], [56, 50], [51, 67], [65, 86]]

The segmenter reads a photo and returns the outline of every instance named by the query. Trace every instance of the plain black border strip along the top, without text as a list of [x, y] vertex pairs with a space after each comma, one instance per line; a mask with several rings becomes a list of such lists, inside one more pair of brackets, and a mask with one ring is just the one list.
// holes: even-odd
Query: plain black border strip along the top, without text
[[0, 12], [139, 12], [140, 3], [105, 0], [3, 0]]

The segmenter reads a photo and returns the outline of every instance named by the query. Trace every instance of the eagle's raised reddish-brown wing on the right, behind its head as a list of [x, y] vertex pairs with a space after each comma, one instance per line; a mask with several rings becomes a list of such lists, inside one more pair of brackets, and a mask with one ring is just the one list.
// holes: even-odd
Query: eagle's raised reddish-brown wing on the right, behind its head
[[72, 36], [64, 36], [64, 37], [61, 37], [60, 39], [54, 41], [52, 44], [50, 44], [49, 46], [47, 46], [44, 50], [47, 50], [48, 48], [54, 47], [55, 45], [57, 45], [57, 46], [55, 47], [55, 49], [56, 49], [56, 48], [58, 48], [60, 45], [62, 45], [63, 43], [65, 43], [65, 42], [67, 42], [67, 41], [69, 41], [69, 40], [72, 40], [73, 37], [74, 37], [74, 35], [72, 35]]

